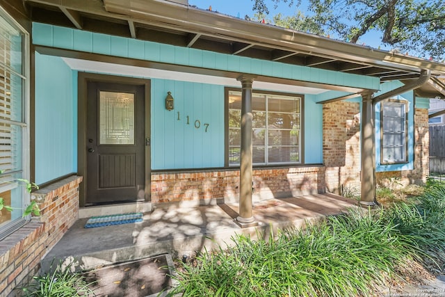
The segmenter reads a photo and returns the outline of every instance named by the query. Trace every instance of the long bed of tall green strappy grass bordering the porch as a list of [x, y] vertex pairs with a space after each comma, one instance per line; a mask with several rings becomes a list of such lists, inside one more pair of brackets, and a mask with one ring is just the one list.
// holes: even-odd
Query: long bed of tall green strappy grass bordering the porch
[[237, 235], [178, 268], [170, 296], [368, 296], [407, 259], [442, 259], [444, 213], [445, 186], [429, 186], [416, 202], [353, 210], [275, 239]]

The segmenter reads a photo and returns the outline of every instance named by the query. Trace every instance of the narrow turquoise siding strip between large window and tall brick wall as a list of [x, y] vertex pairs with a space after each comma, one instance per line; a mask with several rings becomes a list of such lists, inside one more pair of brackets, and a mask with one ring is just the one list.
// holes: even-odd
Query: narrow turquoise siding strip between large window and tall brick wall
[[315, 95], [305, 95], [305, 163], [323, 163], [323, 105]]

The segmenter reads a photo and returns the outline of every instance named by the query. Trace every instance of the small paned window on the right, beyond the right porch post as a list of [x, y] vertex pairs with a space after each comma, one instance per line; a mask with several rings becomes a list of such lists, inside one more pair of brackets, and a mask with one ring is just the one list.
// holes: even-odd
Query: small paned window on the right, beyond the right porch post
[[407, 102], [382, 102], [380, 121], [382, 163], [407, 162]]

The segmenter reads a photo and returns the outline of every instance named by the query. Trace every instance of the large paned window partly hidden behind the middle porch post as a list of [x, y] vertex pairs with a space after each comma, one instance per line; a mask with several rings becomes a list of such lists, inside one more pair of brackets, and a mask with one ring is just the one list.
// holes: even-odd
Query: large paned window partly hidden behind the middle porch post
[[[240, 163], [241, 91], [229, 90], [229, 165]], [[301, 163], [301, 96], [252, 94], [252, 158], [255, 165]]]

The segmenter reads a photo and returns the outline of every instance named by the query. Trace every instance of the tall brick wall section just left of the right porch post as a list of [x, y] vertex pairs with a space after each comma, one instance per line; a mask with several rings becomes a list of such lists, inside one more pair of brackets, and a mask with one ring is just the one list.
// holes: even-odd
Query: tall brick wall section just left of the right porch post
[[360, 186], [360, 106], [355, 102], [323, 104], [323, 164], [326, 191]]

